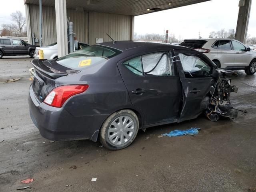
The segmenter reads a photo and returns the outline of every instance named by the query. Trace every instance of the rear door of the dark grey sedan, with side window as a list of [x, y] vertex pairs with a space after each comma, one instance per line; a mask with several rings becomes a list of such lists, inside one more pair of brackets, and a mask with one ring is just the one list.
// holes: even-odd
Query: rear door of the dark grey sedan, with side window
[[182, 90], [169, 58], [169, 51], [159, 51], [118, 62], [131, 103], [144, 114], [146, 126], [178, 116]]

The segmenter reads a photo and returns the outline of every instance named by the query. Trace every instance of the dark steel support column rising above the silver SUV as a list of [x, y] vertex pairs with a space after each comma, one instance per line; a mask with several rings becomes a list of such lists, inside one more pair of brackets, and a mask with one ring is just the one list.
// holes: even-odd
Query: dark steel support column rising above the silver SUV
[[235, 39], [242, 43], [245, 43], [246, 41], [251, 5], [252, 5], [252, 0], [239, 1], [239, 12], [238, 12], [238, 19], [236, 24]]

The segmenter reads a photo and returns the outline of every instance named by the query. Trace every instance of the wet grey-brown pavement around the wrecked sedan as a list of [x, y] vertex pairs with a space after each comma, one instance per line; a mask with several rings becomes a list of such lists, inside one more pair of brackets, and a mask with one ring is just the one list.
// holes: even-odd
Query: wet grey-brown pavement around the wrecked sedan
[[[232, 77], [239, 87], [238, 118], [210, 122], [203, 115], [139, 131], [128, 148], [109, 151], [88, 140], [50, 142], [29, 117], [31, 58], [0, 60], [0, 191], [247, 192], [256, 186], [256, 75]], [[21, 78], [4, 83], [10, 78]], [[158, 137], [175, 129], [199, 134]], [[76, 169], [70, 168], [76, 166]], [[34, 178], [29, 184], [21, 181]], [[96, 181], [91, 181], [97, 178]], [[71, 185], [64, 187], [66, 185]]]

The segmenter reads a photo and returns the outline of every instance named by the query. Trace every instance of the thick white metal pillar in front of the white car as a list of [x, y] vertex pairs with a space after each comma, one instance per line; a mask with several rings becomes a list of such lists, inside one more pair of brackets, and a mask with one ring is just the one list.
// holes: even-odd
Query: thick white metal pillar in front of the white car
[[62, 57], [68, 54], [66, 0], [55, 0], [55, 14], [56, 14], [58, 57]]

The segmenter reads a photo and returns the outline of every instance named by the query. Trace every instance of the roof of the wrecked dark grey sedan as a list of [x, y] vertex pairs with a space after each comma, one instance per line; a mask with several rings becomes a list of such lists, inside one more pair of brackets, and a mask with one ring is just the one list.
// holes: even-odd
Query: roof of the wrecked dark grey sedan
[[[170, 47], [182, 47], [174, 44], [166, 44], [166, 43], [156, 43], [156, 42], [143, 42], [143, 41], [116, 41], [114, 44], [112, 41], [100, 43], [99, 45], [108, 46], [111, 48], [115, 48], [121, 51], [137, 48], [137, 47], [162, 47], [162, 48], [170, 48]], [[184, 48], [184, 47], [182, 47]]]

